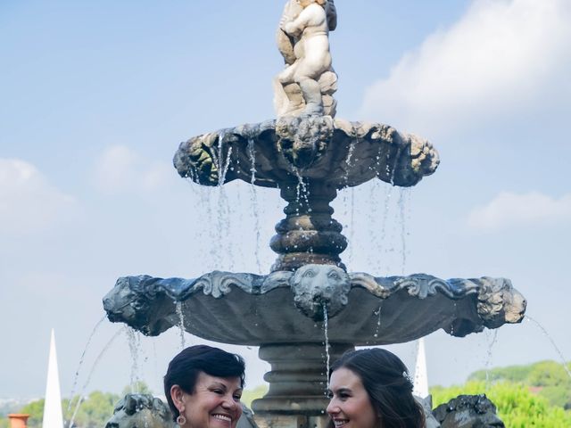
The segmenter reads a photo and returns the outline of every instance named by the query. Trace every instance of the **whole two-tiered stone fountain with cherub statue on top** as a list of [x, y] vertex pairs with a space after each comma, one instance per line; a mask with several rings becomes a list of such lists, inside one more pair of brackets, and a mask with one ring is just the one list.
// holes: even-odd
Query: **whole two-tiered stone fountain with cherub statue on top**
[[261, 427], [325, 426], [326, 359], [345, 350], [409, 342], [440, 328], [462, 337], [518, 323], [525, 312], [525, 299], [505, 278], [347, 271], [340, 258], [347, 240], [329, 206], [337, 191], [373, 179], [417, 185], [439, 157], [418, 136], [335, 119], [328, 44], [335, 26], [333, 0], [287, 2], [277, 30], [285, 61], [274, 80], [277, 119], [194, 136], [174, 157], [178, 174], [198, 185], [240, 179], [279, 189], [287, 205], [270, 242], [277, 259], [269, 274], [125, 276], [103, 299], [112, 322], [146, 335], [179, 325], [182, 310], [188, 333], [259, 346], [271, 365], [269, 391], [252, 405]]

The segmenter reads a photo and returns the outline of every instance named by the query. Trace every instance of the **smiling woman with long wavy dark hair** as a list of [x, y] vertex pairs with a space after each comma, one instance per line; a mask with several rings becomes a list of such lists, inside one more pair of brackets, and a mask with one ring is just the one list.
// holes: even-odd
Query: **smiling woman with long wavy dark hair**
[[388, 350], [353, 350], [329, 371], [330, 427], [425, 428], [407, 367]]

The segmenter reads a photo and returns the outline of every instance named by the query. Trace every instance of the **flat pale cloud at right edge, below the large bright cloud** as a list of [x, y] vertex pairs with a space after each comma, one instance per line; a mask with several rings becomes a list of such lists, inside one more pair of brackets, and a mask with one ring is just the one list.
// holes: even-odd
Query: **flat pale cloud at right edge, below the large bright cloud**
[[559, 199], [542, 193], [500, 193], [468, 216], [468, 226], [492, 230], [509, 226], [571, 220], [571, 193]]

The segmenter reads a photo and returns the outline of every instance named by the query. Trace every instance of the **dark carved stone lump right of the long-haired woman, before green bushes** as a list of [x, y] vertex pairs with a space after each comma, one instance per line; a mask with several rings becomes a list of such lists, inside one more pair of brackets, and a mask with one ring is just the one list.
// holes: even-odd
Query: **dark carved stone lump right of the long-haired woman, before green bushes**
[[459, 395], [433, 411], [442, 428], [503, 428], [492, 401], [481, 395]]

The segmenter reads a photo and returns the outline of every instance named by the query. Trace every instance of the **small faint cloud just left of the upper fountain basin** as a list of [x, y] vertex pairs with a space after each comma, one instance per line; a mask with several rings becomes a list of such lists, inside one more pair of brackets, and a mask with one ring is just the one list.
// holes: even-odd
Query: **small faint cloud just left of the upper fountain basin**
[[113, 145], [96, 161], [94, 183], [103, 193], [147, 192], [166, 185], [173, 172], [166, 162], [148, 161], [124, 145]]

